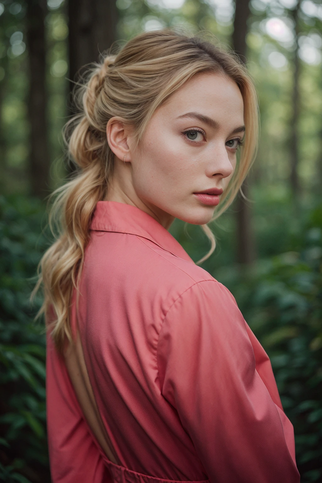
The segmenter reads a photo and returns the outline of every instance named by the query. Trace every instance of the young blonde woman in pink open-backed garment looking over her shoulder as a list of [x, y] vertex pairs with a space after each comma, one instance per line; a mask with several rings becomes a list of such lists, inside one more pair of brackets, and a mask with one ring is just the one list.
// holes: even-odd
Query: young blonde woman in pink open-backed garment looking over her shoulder
[[40, 279], [53, 482], [299, 482], [265, 351], [168, 232], [175, 218], [201, 225], [213, 251], [207, 223], [257, 141], [244, 67], [197, 38], [143, 33], [78, 99], [79, 170], [58, 190]]

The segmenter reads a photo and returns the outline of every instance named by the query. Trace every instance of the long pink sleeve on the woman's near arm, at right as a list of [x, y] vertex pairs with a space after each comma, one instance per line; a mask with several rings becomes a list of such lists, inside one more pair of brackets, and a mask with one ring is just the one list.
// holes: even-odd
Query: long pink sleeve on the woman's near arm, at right
[[[300, 481], [283, 431], [291, 423], [256, 371], [245, 320], [222, 284], [198, 282], [174, 302], [157, 362], [162, 395], [211, 483]], [[287, 439], [292, 446], [294, 433]]]

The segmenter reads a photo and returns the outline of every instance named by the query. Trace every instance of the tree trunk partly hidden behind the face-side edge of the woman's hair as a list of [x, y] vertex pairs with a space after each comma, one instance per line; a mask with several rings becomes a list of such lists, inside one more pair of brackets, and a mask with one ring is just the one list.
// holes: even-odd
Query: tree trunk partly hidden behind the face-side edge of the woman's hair
[[[249, 0], [236, 0], [233, 47], [242, 62], [246, 62], [247, 19]], [[242, 191], [247, 198], [248, 185], [244, 182]], [[236, 200], [237, 261], [249, 265], [255, 259], [255, 244], [252, 230], [252, 213], [248, 202], [238, 194]]]

